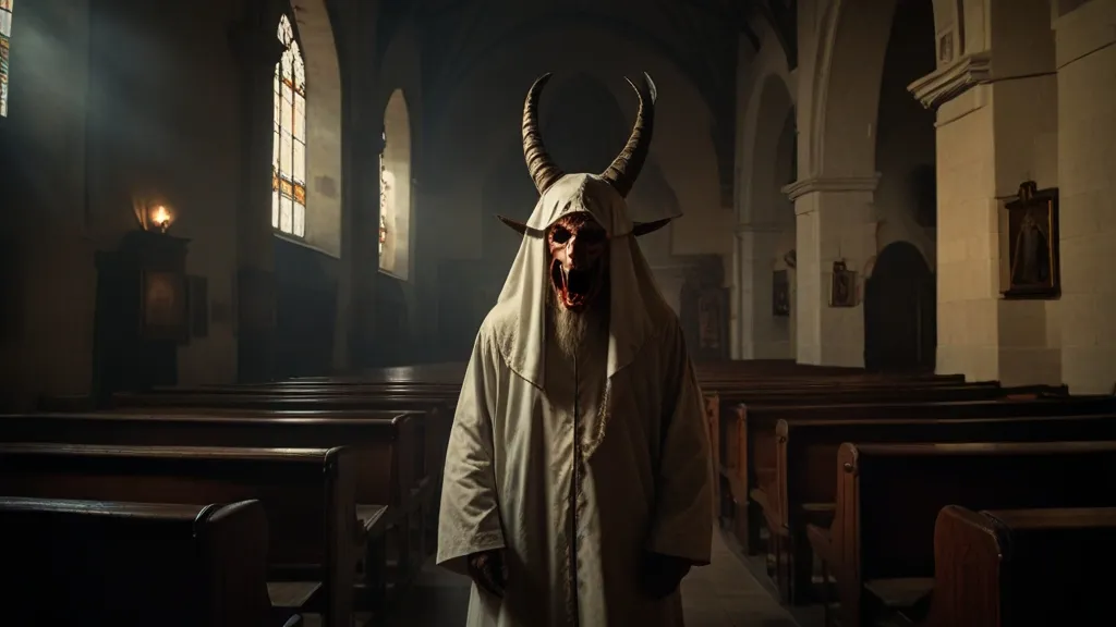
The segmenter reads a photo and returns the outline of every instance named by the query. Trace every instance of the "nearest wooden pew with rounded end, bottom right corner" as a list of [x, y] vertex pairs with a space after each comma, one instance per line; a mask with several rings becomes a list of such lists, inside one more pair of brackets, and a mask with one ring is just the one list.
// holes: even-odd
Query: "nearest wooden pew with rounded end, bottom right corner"
[[1113, 621], [1116, 508], [974, 512], [946, 505], [934, 525], [925, 627]]

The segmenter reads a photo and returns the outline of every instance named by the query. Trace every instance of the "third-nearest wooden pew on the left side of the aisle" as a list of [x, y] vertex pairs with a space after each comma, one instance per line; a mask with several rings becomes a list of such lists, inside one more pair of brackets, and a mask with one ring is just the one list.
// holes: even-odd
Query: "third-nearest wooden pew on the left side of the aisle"
[[[54, 442], [135, 446], [238, 446], [250, 448], [348, 446], [355, 457], [357, 517], [364, 529], [366, 598], [382, 605], [387, 592], [385, 530], [397, 531], [393, 548], [398, 585], [412, 562], [421, 561], [421, 542], [411, 537], [420, 515], [419, 480], [404, 461], [421, 445], [417, 414], [385, 413], [378, 418], [246, 417], [135, 414], [0, 415], [0, 442]], [[417, 520], [417, 519], [415, 519]]]

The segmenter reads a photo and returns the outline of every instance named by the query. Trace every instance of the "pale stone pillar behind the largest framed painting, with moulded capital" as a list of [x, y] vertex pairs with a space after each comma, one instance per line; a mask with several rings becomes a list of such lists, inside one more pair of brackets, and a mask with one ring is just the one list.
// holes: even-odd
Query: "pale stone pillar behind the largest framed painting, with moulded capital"
[[[1013, 26], [1014, 28], [1014, 26]], [[1041, 35], [1041, 33], [1040, 33]], [[1041, 47], [1036, 37], [1033, 48]], [[1052, 301], [1004, 300], [1003, 202], [1019, 184], [1057, 184], [1054, 77], [1041, 57], [995, 81], [991, 52], [973, 52], [908, 89], [937, 108], [937, 358], [940, 374], [1004, 385], [1061, 380]]]

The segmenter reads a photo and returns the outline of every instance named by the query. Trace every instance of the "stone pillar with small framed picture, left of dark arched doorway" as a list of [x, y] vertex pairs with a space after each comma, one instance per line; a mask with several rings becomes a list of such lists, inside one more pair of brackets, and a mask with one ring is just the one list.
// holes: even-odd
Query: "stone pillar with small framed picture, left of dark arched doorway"
[[[864, 366], [864, 269], [876, 254], [873, 195], [878, 175], [815, 177], [783, 187], [797, 220], [797, 360]], [[856, 306], [829, 307], [833, 264], [857, 273]]]

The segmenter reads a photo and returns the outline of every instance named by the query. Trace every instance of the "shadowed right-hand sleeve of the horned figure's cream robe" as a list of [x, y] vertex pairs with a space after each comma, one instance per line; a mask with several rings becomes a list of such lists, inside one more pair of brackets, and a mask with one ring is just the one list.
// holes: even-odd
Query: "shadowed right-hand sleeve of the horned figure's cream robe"
[[647, 550], [710, 562], [713, 542], [713, 469], [701, 388], [682, 330], [663, 343], [663, 444]]

